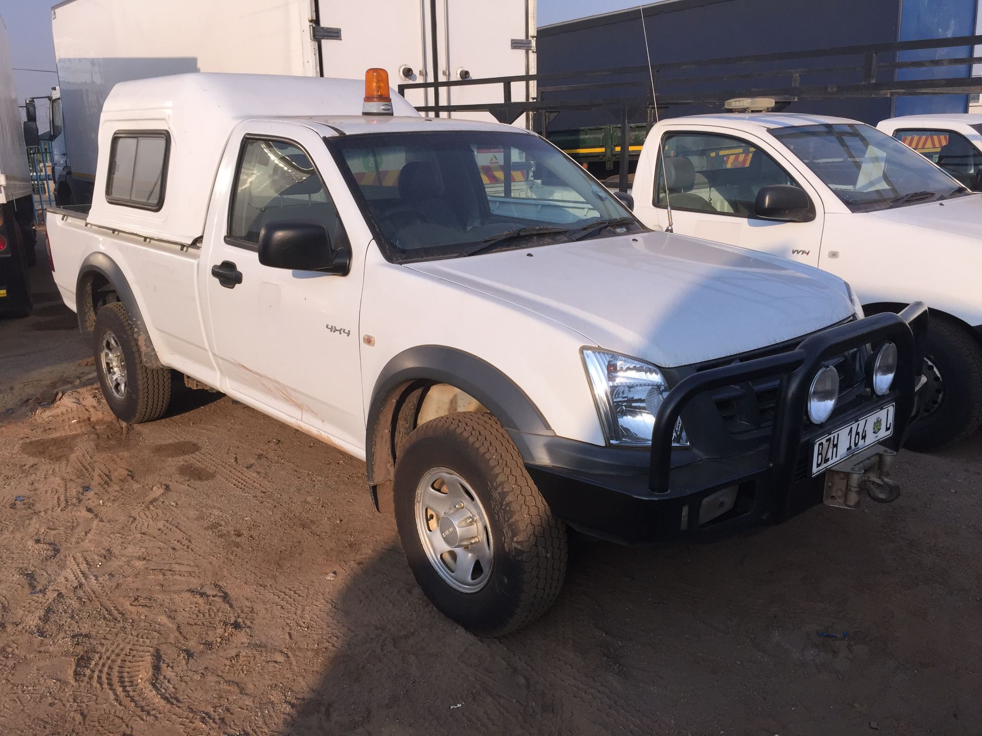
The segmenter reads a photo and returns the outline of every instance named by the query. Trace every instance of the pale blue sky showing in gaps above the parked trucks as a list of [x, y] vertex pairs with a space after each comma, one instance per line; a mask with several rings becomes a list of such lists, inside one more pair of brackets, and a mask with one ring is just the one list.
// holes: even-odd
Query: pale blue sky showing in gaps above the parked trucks
[[[649, 2], [651, 0], [648, 0]], [[7, 25], [11, 58], [15, 68], [53, 70], [54, 43], [51, 40], [51, 6], [55, 0], [0, 0], [0, 17]], [[609, 13], [636, 6], [626, 0], [538, 0], [539, 26], [573, 18]], [[20, 99], [43, 95], [58, 78], [43, 72], [16, 71]]]

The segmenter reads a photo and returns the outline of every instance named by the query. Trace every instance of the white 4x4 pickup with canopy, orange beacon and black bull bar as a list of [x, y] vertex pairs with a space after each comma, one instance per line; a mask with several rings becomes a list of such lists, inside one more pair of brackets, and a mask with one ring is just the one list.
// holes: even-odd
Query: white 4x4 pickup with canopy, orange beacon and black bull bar
[[567, 524], [897, 497], [923, 305], [863, 318], [837, 277], [648, 231], [534, 133], [366, 85], [114, 88], [91, 210], [47, 224], [118, 417], [180, 373], [363, 458], [426, 595], [484, 635], [552, 604]]

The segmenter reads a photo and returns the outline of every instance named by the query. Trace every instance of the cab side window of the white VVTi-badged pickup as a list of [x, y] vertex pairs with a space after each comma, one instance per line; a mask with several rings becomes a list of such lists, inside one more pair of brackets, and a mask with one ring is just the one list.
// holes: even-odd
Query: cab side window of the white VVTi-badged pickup
[[673, 210], [741, 218], [753, 217], [762, 187], [798, 186], [773, 158], [745, 140], [687, 131], [662, 137], [655, 184], [656, 207], [668, 202]]

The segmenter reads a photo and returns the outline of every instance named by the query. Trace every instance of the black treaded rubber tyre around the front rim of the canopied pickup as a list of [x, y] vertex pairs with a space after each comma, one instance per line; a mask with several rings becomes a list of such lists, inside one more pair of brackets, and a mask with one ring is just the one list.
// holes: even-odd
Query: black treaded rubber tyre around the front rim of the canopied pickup
[[[440, 577], [416, 530], [416, 488], [437, 467], [464, 478], [488, 515], [493, 565], [477, 592], [462, 593]], [[478, 636], [502, 636], [553, 605], [566, 575], [566, 525], [552, 515], [518, 448], [492, 416], [449, 414], [413, 430], [396, 462], [394, 493], [409, 567], [447, 617]]]

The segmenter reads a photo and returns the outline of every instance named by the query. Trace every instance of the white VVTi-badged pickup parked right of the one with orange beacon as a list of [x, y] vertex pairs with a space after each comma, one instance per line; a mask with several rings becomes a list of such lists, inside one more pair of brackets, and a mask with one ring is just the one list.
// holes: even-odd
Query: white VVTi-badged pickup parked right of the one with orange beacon
[[982, 425], [982, 195], [900, 140], [813, 115], [673, 118], [649, 132], [632, 193], [648, 227], [821, 268], [867, 315], [924, 301], [927, 386], [908, 446]]

